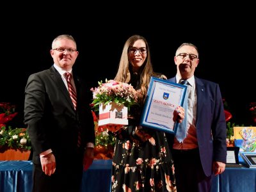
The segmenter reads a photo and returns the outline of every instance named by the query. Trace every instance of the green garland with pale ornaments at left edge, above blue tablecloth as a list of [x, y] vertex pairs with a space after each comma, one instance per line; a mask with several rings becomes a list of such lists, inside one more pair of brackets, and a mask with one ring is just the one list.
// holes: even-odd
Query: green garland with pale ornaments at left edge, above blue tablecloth
[[26, 129], [12, 129], [11, 126], [0, 128], [0, 150], [6, 150], [8, 148], [20, 151], [31, 150], [31, 140]]

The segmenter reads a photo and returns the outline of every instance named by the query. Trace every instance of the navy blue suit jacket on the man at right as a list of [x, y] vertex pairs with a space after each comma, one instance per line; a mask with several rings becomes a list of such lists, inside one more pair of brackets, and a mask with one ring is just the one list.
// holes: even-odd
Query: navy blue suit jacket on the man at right
[[[176, 83], [176, 78], [168, 79]], [[212, 161], [226, 163], [227, 127], [220, 87], [217, 83], [195, 77], [196, 135], [205, 175], [212, 173]]]

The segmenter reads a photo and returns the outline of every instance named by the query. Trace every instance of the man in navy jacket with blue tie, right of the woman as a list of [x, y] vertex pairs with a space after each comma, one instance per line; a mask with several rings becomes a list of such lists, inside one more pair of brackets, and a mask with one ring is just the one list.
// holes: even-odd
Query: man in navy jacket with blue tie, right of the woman
[[186, 136], [172, 145], [177, 191], [207, 192], [213, 174], [225, 170], [227, 158], [226, 122], [219, 85], [194, 76], [198, 50], [193, 44], [182, 44], [174, 57], [177, 74], [169, 81], [188, 81], [188, 113], [184, 126]]

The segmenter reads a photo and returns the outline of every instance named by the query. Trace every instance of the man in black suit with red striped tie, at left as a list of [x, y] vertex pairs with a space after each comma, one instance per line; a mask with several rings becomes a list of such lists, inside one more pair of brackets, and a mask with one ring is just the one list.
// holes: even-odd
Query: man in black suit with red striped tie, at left
[[72, 71], [78, 51], [71, 35], [57, 36], [50, 52], [54, 65], [29, 76], [25, 89], [33, 191], [79, 191], [95, 143], [90, 88]]

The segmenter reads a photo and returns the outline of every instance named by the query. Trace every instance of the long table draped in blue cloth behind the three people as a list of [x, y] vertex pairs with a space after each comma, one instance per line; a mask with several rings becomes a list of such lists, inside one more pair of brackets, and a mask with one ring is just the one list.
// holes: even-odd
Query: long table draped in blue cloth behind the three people
[[[94, 160], [83, 174], [81, 191], [111, 191], [111, 160]], [[0, 161], [1, 192], [31, 192], [31, 161]], [[255, 192], [256, 168], [226, 168], [214, 177], [212, 192]]]

